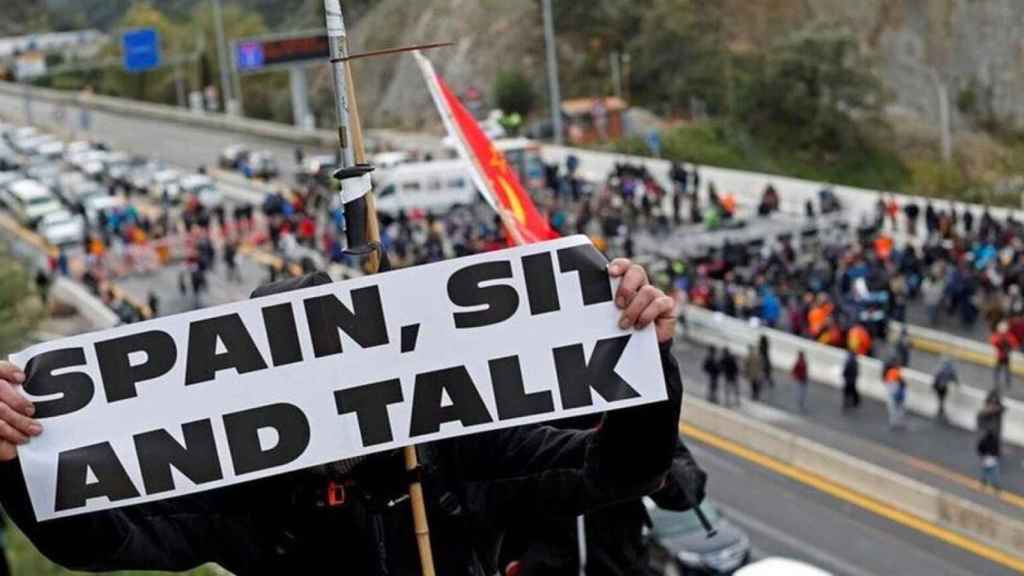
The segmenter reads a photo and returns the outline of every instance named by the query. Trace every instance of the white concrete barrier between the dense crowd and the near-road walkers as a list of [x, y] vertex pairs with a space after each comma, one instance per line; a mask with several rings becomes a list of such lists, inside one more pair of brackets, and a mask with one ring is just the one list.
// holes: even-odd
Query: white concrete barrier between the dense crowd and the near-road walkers
[[[788, 369], [796, 362], [797, 354], [803, 352], [807, 357], [812, 380], [835, 388], [843, 387], [842, 370], [846, 362], [844, 349], [780, 330], [753, 327], [742, 320], [697, 306], [688, 305], [683, 312], [686, 317], [686, 334], [698, 342], [729, 346], [737, 356], [745, 358], [748, 347], [755, 346], [756, 349], [758, 339], [761, 334], [765, 334], [771, 342], [772, 366]], [[884, 402], [887, 393], [882, 382], [882, 362], [873, 358], [860, 358], [859, 363], [860, 377], [857, 384], [860, 394]], [[932, 375], [904, 368], [903, 378], [907, 386], [907, 410], [933, 417], [938, 411], [938, 401], [932, 390]], [[979, 388], [954, 386], [946, 397], [946, 416], [954, 425], [974, 430], [977, 427], [976, 416], [984, 400], [985, 392]], [[1007, 408], [1002, 425], [1004, 439], [1017, 446], [1024, 446], [1024, 404], [1010, 398], [1004, 398], [1002, 403]]]

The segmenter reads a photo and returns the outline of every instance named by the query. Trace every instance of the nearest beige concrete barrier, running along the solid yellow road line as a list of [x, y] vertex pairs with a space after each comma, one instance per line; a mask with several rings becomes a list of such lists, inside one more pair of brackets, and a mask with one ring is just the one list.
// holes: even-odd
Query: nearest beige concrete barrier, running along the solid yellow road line
[[728, 409], [686, 396], [683, 422], [831, 481], [865, 498], [951, 529], [1024, 561], [1024, 523]]

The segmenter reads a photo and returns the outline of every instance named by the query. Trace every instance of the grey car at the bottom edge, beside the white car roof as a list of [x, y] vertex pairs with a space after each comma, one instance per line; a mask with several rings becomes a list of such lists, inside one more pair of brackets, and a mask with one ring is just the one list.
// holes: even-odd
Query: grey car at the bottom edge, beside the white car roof
[[751, 558], [751, 539], [722, 517], [710, 500], [701, 511], [718, 531], [709, 537], [693, 510], [677, 512], [657, 507], [644, 498], [651, 527], [647, 545], [651, 567], [665, 576], [712, 576], [732, 574]]

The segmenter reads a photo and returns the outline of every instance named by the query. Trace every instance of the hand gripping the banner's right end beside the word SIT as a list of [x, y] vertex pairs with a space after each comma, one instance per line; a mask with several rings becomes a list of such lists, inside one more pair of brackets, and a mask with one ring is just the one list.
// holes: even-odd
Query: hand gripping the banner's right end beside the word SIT
[[615, 305], [623, 311], [620, 328], [640, 329], [654, 323], [657, 341], [663, 343], [676, 335], [676, 301], [650, 284], [643, 266], [615, 258], [608, 264], [608, 274], [622, 279], [615, 291]]

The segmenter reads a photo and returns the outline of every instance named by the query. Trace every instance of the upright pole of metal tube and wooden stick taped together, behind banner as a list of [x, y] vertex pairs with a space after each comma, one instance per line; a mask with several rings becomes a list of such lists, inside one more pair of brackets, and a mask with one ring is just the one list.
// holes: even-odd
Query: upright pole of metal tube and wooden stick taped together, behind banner
[[[355, 89], [352, 85], [352, 71], [349, 67], [348, 35], [341, 13], [339, 0], [324, 0], [327, 19], [327, 35], [330, 45], [331, 69], [334, 76], [335, 105], [338, 113], [338, 142], [341, 147], [341, 169], [337, 174], [342, 178], [342, 197], [345, 200], [346, 238], [349, 249], [374, 247], [368, 261], [371, 274], [379, 272], [381, 263], [380, 228], [374, 194], [369, 190], [369, 174], [373, 167], [366, 162], [362, 130], [359, 113], [355, 104]], [[353, 194], [346, 191], [349, 180]], [[353, 186], [354, 184], [354, 186]], [[366, 188], [361, 188], [366, 187]], [[427, 509], [423, 500], [423, 485], [417, 474], [420, 463], [415, 446], [403, 448], [406, 469], [412, 481], [409, 498], [413, 508], [413, 527], [420, 551], [423, 576], [434, 576], [433, 550], [430, 547], [430, 530], [427, 525]]]

